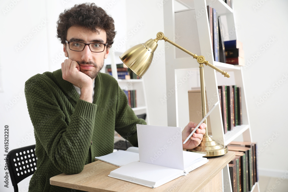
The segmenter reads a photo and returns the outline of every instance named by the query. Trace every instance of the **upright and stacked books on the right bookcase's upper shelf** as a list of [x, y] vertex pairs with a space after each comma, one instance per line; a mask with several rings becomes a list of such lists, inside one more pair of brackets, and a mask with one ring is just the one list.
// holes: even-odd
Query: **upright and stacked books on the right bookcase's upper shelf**
[[214, 60], [233, 65], [245, 65], [242, 42], [224, 41], [221, 17], [216, 9], [207, 6]]

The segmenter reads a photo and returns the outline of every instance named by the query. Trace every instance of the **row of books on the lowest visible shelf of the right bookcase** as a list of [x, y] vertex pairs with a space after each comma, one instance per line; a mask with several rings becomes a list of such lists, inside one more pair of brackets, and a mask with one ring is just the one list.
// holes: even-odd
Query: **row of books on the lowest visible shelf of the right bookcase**
[[259, 180], [257, 143], [233, 141], [228, 146], [235, 158], [228, 164], [233, 192], [251, 191]]

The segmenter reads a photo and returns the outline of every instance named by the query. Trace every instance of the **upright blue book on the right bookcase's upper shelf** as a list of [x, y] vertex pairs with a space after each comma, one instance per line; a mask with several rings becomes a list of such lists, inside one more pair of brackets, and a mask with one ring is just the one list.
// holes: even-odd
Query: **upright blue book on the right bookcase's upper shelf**
[[213, 8], [213, 54], [214, 60], [219, 62], [219, 26], [218, 26], [218, 13]]

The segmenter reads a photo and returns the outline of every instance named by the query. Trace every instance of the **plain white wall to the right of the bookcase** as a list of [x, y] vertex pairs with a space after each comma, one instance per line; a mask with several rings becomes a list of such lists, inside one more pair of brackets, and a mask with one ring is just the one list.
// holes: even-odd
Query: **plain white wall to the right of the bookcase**
[[259, 172], [277, 177], [288, 170], [287, 7], [285, 0], [234, 0], [238, 40], [245, 51], [252, 138], [260, 150]]

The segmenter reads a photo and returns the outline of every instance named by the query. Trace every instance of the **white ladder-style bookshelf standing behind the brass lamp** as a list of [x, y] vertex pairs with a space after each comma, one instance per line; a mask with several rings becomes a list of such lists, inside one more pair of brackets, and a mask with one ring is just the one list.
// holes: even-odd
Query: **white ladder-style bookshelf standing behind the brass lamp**
[[[216, 9], [218, 16], [221, 16], [222, 23], [225, 24], [224, 33], [226, 35], [224, 40], [237, 39], [233, 9], [223, 0], [165, 1], [163, 5], [164, 35], [192, 53], [198, 56], [203, 55], [211, 64], [231, 75], [230, 78], [223, 77], [219, 72], [204, 65], [206, 96], [208, 102], [211, 101], [211, 105], [207, 104], [209, 109], [219, 100], [218, 85], [237, 85], [237, 87], [241, 87], [242, 125], [236, 126], [224, 134], [221, 109], [218, 106], [210, 115], [213, 139], [222, 145], [228, 145], [231, 141], [239, 138], [243, 141], [252, 142], [242, 67], [214, 61], [207, 5]], [[175, 9], [175, 7], [181, 7], [181, 9]], [[166, 90], [167, 95], [170, 94], [170, 98], [167, 100], [167, 119], [168, 126], [185, 127], [189, 121], [188, 90], [195, 87], [195, 85], [191, 85], [189, 81], [181, 83], [181, 85], [177, 82], [185, 78], [187, 71], [195, 72], [195, 70], [199, 70], [199, 64], [192, 56], [183, 54], [182, 51], [177, 49], [174, 46], [165, 49]], [[191, 79], [195, 78], [191, 77]], [[173, 89], [175, 93], [171, 94], [170, 90]], [[227, 180], [230, 186], [226, 186], [223, 191], [232, 192], [228, 165], [223, 169], [222, 181], [226, 182]], [[258, 183], [255, 183], [252, 191], [259, 192]]]

